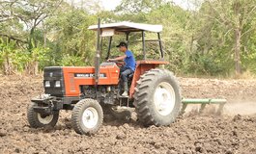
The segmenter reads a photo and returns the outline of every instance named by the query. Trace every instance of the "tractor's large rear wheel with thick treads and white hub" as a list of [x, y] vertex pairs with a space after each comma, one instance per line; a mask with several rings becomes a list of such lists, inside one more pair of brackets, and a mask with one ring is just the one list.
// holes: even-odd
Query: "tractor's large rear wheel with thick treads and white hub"
[[179, 115], [182, 101], [179, 84], [173, 73], [151, 69], [137, 82], [134, 106], [144, 125], [169, 125]]

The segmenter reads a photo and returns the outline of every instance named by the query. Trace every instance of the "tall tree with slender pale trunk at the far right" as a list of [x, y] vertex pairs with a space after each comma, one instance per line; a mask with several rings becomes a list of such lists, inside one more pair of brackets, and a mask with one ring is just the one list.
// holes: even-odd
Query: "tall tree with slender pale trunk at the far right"
[[241, 56], [244, 47], [246, 48], [242, 39], [244, 37], [248, 38], [255, 31], [256, 2], [254, 0], [207, 0], [203, 7], [207, 9], [206, 16], [225, 28], [226, 34], [222, 37], [233, 39], [233, 42], [230, 42], [233, 54], [230, 56], [235, 61], [236, 74], [241, 74]]

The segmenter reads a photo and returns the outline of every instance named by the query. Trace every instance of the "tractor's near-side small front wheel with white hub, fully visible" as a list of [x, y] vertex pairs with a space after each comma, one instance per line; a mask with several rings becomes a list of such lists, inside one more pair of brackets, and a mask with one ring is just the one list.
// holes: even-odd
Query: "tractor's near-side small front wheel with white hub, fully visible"
[[103, 121], [100, 103], [94, 99], [82, 99], [72, 109], [71, 123], [78, 134], [95, 134]]

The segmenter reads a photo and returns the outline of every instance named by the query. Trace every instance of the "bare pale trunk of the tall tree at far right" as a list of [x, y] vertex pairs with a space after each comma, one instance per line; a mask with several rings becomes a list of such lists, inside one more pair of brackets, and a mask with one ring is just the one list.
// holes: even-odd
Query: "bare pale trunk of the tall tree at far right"
[[241, 69], [241, 30], [240, 28], [237, 28], [235, 30], [235, 37], [236, 37], [236, 43], [235, 43], [235, 68], [236, 68], [236, 74], [240, 75], [242, 74]]

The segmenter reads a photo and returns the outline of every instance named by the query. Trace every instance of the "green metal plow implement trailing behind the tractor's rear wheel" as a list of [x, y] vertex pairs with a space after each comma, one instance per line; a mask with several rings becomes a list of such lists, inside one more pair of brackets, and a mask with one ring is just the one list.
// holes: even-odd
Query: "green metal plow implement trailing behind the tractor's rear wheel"
[[202, 113], [205, 109], [206, 105], [209, 104], [217, 104], [217, 114], [221, 114], [223, 111], [224, 105], [227, 103], [226, 99], [197, 99], [197, 98], [184, 98], [182, 100], [183, 108], [181, 114], [185, 114], [185, 108], [188, 104], [201, 104], [201, 107], [199, 109], [199, 113]]

